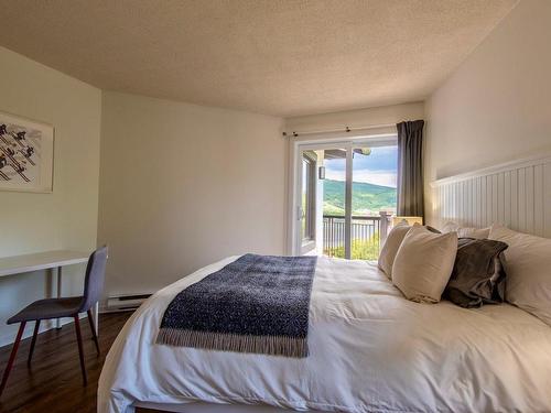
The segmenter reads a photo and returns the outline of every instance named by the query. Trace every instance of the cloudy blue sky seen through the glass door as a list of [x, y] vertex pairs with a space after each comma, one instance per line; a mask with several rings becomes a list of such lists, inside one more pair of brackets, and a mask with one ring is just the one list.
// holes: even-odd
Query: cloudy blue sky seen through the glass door
[[[397, 146], [372, 148], [369, 155], [354, 154], [353, 181], [396, 188]], [[345, 160], [325, 160], [325, 178], [345, 181]]]

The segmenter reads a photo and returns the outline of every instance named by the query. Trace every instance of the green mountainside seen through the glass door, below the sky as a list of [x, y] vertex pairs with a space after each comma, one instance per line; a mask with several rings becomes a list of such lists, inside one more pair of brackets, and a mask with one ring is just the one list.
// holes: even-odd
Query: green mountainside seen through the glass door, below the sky
[[[345, 183], [325, 180], [323, 188], [324, 215], [344, 215]], [[396, 188], [353, 182], [352, 209], [353, 214], [358, 215], [365, 215], [368, 211], [377, 214], [379, 210], [396, 210]]]

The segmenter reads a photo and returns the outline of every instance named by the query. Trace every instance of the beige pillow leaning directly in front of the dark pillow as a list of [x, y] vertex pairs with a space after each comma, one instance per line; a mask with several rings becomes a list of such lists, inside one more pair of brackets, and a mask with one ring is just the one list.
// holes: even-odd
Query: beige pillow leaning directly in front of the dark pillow
[[437, 303], [452, 274], [457, 233], [434, 233], [413, 226], [392, 265], [392, 283], [408, 300]]

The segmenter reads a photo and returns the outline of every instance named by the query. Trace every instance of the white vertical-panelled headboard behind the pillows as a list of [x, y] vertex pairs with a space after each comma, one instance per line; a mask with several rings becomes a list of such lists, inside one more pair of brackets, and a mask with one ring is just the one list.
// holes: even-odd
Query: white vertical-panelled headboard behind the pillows
[[450, 176], [431, 184], [434, 217], [463, 226], [499, 222], [551, 238], [551, 154]]

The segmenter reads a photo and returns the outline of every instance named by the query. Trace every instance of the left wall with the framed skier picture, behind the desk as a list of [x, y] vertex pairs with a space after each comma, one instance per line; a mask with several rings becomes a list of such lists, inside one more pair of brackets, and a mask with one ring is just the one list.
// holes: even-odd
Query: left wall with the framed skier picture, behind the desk
[[[100, 90], [0, 47], [0, 110], [55, 127], [54, 191], [0, 191], [0, 257], [96, 246]], [[65, 295], [83, 292], [84, 267], [64, 272]], [[0, 345], [18, 326], [6, 320], [50, 294], [43, 272], [0, 278]], [[45, 327], [45, 326], [44, 326]], [[29, 335], [33, 326], [28, 326]]]

